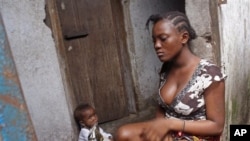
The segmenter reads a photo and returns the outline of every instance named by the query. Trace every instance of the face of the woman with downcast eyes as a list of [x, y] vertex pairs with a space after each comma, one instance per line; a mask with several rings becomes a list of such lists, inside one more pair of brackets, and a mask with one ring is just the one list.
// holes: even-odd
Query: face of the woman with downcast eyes
[[154, 48], [162, 62], [172, 60], [182, 49], [182, 34], [167, 21], [158, 21], [152, 29]]

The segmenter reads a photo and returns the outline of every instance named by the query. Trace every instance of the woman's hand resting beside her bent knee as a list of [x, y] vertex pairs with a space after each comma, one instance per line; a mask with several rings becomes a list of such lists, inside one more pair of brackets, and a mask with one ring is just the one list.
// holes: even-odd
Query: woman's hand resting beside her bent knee
[[169, 132], [168, 125], [168, 119], [156, 118], [148, 122], [148, 126], [142, 130], [141, 138], [144, 141], [162, 141]]

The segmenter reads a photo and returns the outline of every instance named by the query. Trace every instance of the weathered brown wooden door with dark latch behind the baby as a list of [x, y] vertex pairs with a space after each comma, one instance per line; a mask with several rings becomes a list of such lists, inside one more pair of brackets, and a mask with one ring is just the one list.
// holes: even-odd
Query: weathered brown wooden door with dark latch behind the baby
[[101, 122], [128, 114], [120, 50], [124, 27], [118, 27], [115, 4], [56, 0], [73, 97], [77, 104], [93, 104]]

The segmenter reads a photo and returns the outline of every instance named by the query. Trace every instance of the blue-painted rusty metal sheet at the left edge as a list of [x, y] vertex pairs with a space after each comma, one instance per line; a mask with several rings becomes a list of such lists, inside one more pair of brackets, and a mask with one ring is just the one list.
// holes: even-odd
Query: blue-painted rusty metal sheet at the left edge
[[0, 15], [0, 141], [36, 141]]

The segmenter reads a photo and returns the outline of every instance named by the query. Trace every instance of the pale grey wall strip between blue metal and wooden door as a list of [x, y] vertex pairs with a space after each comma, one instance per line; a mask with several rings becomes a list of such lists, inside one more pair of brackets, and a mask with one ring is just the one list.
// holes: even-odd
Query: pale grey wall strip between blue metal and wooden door
[[43, 0], [0, 0], [0, 12], [39, 141], [72, 140], [55, 44]]

